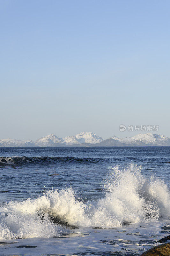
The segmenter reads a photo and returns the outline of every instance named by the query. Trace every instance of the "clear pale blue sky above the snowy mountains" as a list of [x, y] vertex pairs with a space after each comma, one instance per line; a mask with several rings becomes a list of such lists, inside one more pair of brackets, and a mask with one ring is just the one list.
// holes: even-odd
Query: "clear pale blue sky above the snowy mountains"
[[0, 24], [0, 138], [170, 137], [170, 1], [0, 0]]

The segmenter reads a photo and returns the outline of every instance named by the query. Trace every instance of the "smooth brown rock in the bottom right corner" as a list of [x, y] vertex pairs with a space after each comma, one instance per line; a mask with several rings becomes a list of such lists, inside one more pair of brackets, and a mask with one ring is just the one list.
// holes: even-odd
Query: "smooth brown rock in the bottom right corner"
[[142, 253], [141, 256], [170, 256], [170, 243], [155, 246]]

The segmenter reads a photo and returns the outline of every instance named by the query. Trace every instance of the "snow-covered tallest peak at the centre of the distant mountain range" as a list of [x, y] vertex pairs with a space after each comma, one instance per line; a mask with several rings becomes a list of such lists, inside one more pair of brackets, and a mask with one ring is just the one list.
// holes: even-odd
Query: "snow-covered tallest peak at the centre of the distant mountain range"
[[93, 132], [81, 132], [75, 135], [80, 143], [99, 143], [103, 141], [101, 137]]

